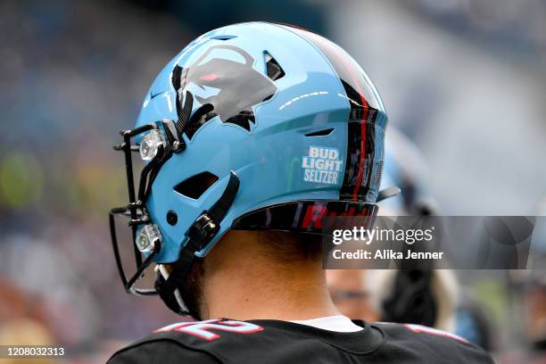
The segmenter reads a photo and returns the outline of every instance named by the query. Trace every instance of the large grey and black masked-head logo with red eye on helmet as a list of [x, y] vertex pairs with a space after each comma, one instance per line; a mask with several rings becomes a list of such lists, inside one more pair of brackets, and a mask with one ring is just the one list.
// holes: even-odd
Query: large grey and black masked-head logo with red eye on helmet
[[[203, 62], [213, 50], [219, 48], [242, 55], [244, 63], [225, 58], [211, 58]], [[188, 121], [186, 136], [192, 139], [204, 123], [216, 116], [223, 123], [235, 124], [248, 132], [251, 131], [250, 123], [256, 122], [252, 106], [269, 100], [277, 92], [277, 87], [271, 79], [252, 68], [253, 62], [250, 54], [234, 45], [213, 45], [191, 66], [175, 66], [171, 80], [178, 94], [177, 106], [182, 104], [184, 90], [190, 83], [202, 89], [205, 87], [219, 89], [218, 94], [206, 98], [194, 96], [203, 106], [198, 112], [194, 112]], [[177, 110], [181, 109], [177, 107]]]

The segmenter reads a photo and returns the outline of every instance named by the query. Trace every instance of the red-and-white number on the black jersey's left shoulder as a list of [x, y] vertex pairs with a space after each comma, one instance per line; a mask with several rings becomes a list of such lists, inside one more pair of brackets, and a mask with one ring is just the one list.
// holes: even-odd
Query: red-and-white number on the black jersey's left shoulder
[[170, 331], [178, 331], [179, 333], [185, 333], [201, 337], [202, 339], [205, 339], [207, 341], [219, 339], [221, 337], [220, 335], [208, 331], [211, 329], [228, 331], [238, 334], [252, 334], [262, 331], [263, 327], [259, 327], [258, 325], [254, 325], [250, 322], [233, 320], [220, 321], [219, 318], [216, 318], [208, 319], [206, 321], [181, 322], [167, 327], [162, 327], [159, 330], [155, 330], [154, 333], [168, 333]]

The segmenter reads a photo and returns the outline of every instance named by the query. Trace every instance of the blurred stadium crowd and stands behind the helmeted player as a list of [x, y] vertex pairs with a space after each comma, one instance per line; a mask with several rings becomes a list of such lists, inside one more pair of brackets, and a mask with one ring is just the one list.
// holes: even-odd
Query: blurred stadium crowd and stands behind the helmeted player
[[[72, 362], [100, 362], [179, 319], [121, 288], [106, 212], [125, 201], [125, 178], [112, 145], [184, 45], [254, 20], [317, 31], [360, 62], [423, 153], [444, 215], [534, 213], [546, 194], [542, 0], [3, 0], [0, 344], [59, 343]], [[521, 290], [507, 272], [459, 276], [488, 312], [497, 358], [519, 358]]]

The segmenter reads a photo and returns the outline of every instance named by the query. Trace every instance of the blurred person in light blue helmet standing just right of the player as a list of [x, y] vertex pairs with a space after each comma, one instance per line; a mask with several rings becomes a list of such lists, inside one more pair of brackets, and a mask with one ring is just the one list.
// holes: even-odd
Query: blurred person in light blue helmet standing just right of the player
[[[383, 216], [428, 216], [438, 213], [430, 194], [426, 161], [408, 136], [391, 128], [385, 136], [385, 178], [382, 188], [399, 186], [401, 194], [385, 200]], [[459, 285], [451, 270], [372, 270], [371, 300], [380, 319], [455, 331]], [[464, 337], [464, 336], [463, 336]]]

